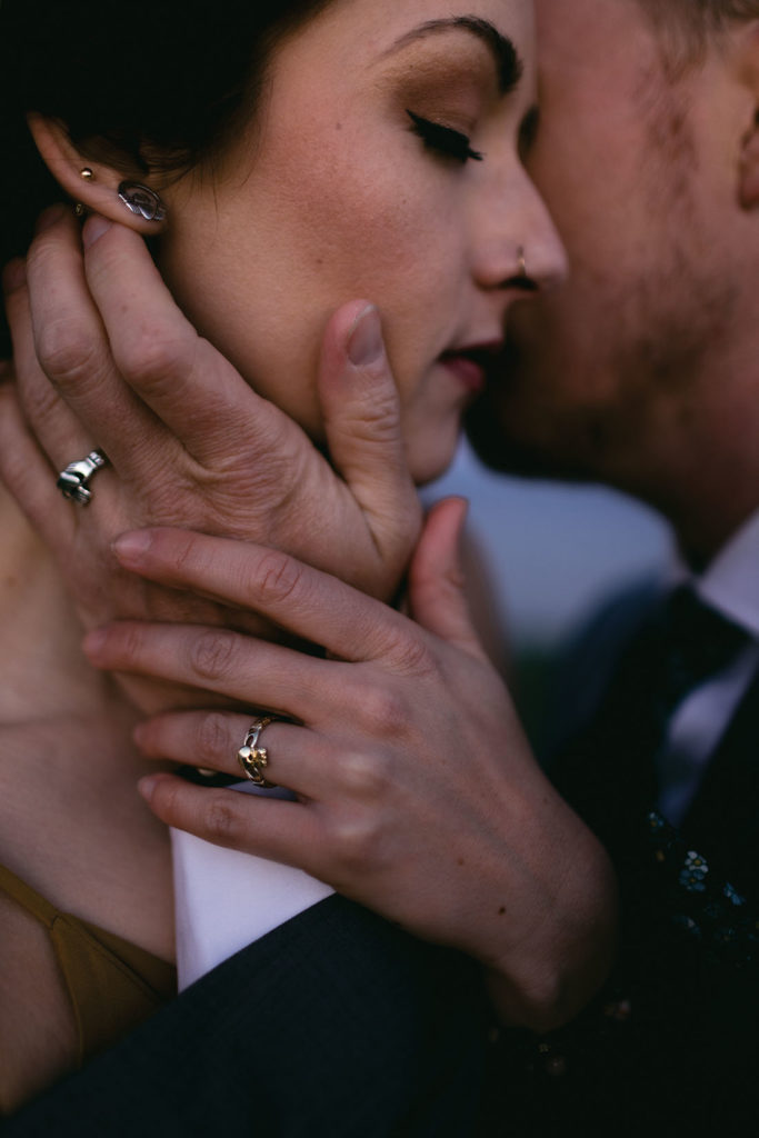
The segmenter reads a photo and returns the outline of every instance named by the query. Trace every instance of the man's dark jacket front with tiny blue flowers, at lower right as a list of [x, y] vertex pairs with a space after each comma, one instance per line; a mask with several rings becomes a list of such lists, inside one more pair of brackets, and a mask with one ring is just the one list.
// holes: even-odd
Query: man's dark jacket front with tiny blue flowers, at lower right
[[488, 1135], [733, 1136], [757, 1128], [759, 678], [676, 833], [653, 809], [645, 640], [636, 638], [621, 678], [553, 770], [618, 872], [617, 966], [563, 1031], [502, 1039], [492, 1057]]

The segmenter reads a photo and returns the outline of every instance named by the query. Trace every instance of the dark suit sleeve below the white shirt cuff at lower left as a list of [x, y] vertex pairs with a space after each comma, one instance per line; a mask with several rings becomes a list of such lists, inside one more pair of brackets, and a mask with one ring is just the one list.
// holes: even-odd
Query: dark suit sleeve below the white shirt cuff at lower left
[[331, 897], [203, 978], [11, 1119], [44, 1135], [464, 1136], [477, 970]]

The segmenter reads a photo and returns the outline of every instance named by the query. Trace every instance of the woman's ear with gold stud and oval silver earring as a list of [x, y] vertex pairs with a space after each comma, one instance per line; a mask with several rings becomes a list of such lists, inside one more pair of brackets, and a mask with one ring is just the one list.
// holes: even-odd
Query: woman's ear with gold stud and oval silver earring
[[114, 166], [84, 158], [57, 119], [33, 113], [27, 123], [48, 170], [74, 201], [138, 233], [160, 232], [165, 209], [155, 190]]

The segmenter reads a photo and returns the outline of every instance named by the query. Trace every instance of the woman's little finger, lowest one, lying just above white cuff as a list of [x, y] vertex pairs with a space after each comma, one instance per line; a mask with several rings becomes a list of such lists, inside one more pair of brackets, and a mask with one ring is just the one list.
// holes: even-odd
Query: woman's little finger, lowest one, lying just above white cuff
[[307, 805], [193, 786], [173, 775], [149, 775], [139, 790], [167, 826], [214, 846], [257, 853], [320, 876], [325, 839], [317, 811]]

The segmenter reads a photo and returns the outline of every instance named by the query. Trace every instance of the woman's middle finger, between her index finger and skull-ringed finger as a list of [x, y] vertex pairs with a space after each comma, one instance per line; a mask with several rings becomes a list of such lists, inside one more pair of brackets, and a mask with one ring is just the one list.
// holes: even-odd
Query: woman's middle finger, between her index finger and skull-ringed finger
[[307, 723], [341, 703], [339, 665], [222, 628], [118, 621], [90, 633], [84, 651], [104, 670], [170, 679]]

